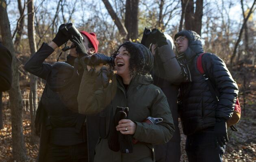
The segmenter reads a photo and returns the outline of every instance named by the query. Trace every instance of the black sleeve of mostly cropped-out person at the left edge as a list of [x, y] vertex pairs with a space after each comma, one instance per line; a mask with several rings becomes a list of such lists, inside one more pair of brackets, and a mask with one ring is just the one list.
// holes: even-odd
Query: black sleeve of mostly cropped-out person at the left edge
[[0, 43], [0, 92], [11, 88], [11, 52]]

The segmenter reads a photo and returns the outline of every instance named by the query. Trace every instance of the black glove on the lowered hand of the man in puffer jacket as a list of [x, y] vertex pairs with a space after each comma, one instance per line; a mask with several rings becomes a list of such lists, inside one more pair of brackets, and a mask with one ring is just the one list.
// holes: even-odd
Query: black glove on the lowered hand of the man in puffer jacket
[[228, 132], [227, 132], [227, 124], [225, 121], [223, 122], [216, 122], [214, 126], [214, 133], [216, 136], [216, 145], [217, 143], [223, 147], [228, 143]]

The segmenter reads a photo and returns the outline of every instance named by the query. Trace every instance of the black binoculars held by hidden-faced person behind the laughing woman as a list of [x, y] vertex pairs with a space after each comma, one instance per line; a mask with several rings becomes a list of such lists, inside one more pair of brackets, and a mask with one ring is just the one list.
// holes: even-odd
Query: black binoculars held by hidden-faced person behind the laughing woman
[[160, 34], [161, 32], [158, 29], [151, 30], [145, 27], [143, 36], [141, 39], [141, 44], [149, 48], [151, 43], [156, 44]]

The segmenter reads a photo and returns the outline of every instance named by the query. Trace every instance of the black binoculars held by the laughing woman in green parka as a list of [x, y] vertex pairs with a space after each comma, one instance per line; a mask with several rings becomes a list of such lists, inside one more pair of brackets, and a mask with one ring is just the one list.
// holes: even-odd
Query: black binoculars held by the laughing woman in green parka
[[87, 65], [99, 65], [101, 63], [103, 63], [103, 65], [106, 65], [106, 64], [114, 65], [115, 64], [114, 61], [115, 61], [114, 57], [108, 57], [101, 53], [96, 53], [94, 55], [91, 55], [91, 57], [85, 58], [85, 63]]

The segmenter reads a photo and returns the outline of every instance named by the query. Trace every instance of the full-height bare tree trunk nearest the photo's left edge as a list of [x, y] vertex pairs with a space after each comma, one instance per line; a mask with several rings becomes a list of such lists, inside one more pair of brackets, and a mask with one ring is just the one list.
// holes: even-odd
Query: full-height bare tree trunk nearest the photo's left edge
[[2, 34], [2, 41], [11, 54], [13, 55], [12, 61], [12, 75], [13, 82], [12, 87], [9, 90], [10, 107], [11, 107], [11, 132], [12, 132], [12, 146], [13, 146], [13, 158], [18, 162], [24, 162], [27, 160], [26, 147], [23, 135], [22, 126], [22, 95], [20, 92], [19, 84], [19, 71], [17, 65], [17, 58], [15, 57], [15, 50], [12, 42], [10, 22], [6, 10], [6, 0], [1, 1], [0, 5], [0, 28]]

